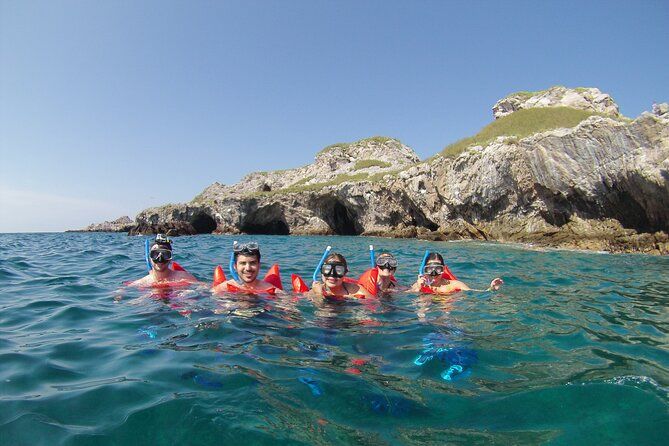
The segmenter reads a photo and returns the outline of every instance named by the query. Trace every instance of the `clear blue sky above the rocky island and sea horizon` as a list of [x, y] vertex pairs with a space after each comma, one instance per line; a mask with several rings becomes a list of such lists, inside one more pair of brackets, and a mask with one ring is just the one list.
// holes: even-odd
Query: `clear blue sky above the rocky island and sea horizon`
[[0, 0], [0, 232], [186, 202], [376, 135], [421, 158], [506, 95], [669, 101], [669, 2]]

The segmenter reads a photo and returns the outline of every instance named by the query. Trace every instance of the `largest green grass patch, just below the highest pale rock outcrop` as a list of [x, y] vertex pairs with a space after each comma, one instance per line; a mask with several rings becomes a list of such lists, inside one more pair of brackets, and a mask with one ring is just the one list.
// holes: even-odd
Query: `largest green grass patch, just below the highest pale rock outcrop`
[[593, 115], [612, 118], [611, 115], [605, 113], [578, 110], [571, 107], [545, 107], [518, 110], [510, 115], [491, 122], [483, 127], [483, 129], [476, 135], [463, 138], [447, 146], [441, 151], [440, 155], [444, 157], [455, 157], [462, 153], [467, 147], [486, 146], [499, 136], [512, 136], [517, 139], [522, 139], [534, 135], [535, 133], [546, 132], [548, 130], [575, 127], [581, 121]]

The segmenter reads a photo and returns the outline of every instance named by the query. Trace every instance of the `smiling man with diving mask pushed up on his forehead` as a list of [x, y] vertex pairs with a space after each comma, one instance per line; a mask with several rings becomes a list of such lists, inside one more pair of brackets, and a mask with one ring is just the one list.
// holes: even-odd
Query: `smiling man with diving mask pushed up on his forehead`
[[258, 279], [260, 273], [260, 246], [256, 242], [235, 243], [232, 246], [234, 268], [239, 276], [212, 288], [213, 292], [249, 292], [277, 294], [282, 291], [269, 282]]

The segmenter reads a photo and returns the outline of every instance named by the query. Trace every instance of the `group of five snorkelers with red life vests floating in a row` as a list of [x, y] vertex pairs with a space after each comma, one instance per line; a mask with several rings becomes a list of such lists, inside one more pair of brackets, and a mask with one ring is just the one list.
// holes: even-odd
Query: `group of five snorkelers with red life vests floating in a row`
[[[172, 241], [158, 234], [152, 243], [146, 246], [147, 276], [131, 282], [130, 286], [152, 287], [198, 283], [198, 280], [172, 259]], [[371, 247], [370, 247], [371, 248]], [[373, 251], [372, 251], [373, 253]], [[397, 259], [389, 252], [378, 256], [372, 254], [374, 266], [367, 270], [360, 279], [350, 279], [346, 259], [339, 253], [326, 250], [317, 270], [313, 283], [308, 287], [297, 275], [292, 275], [293, 290], [324, 297], [369, 298], [393, 292], [411, 291], [428, 294], [451, 294], [471, 290], [465, 283], [456, 279], [444, 258], [439, 253], [426, 252], [416, 282], [411, 287], [401, 286], [395, 279], [399, 266]], [[235, 243], [230, 260], [231, 279], [227, 279], [219, 266], [214, 272], [214, 293], [232, 292], [245, 294], [281, 294], [283, 287], [278, 267], [273, 266], [264, 279], [260, 273], [260, 247], [255, 242]], [[320, 273], [320, 280], [318, 275]], [[489, 291], [497, 290], [503, 284], [495, 278], [490, 283]]]

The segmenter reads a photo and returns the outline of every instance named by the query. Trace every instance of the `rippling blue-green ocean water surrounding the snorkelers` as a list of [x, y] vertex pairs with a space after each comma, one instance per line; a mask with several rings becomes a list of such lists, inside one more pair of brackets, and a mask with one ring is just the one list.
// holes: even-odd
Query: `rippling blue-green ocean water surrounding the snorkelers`
[[[669, 259], [474, 242], [241, 236], [310, 277], [425, 249], [472, 287], [314, 303], [124, 289], [143, 237], [0, 234], [0, 444], [666, 444]], [[175, 239], [203, 282], [232, 237]], [[227, 272], [227, 268], [226, 272]]]

